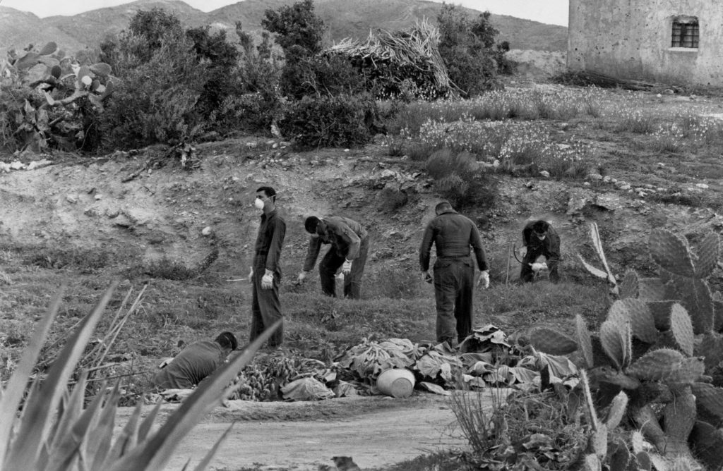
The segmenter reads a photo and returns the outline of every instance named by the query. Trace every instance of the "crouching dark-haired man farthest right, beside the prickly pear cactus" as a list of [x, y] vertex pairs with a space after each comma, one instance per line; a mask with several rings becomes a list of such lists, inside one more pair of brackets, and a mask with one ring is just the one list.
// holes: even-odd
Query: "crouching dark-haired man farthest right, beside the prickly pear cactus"
[[[557, 273], [557, 265], [560, 264], [560, 235], [557, 235], [552, 225], [545, 220], [528, 222], [522, 230], [522, 243], [520, 280], [531, 282], [536, 272], [549, 269], [549, 280], [553, 283], [560, 281], [560, 274]], [[547, 262], [536, 262], [541, 255]]]

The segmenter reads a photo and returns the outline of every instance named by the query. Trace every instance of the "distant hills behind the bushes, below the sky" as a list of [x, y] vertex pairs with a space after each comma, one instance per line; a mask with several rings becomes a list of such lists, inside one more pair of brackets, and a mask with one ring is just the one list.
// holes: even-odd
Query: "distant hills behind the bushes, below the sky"
[[[237, 21], [244, 30], [261, 29], [267, 9], [278, 9], [295, 0], [243, 0], [213, 12], [201, 12], [179, 0], [137, 0], [118, 7], [95, 9], [64, 17], [39, 18], [35, 14], [0, 6], [0, 50], [22, 49], [54, 40], [60, 48], [74, 53], [96, 48], [109, 33], [127, 29], [139, 10], [163, 8], [186, 27], [212, 25], [234, 31]], [[328, 27], [328, 39], [363, 39], [369, 31], [401, 30], [427, 18], [436, 21], [442, 4], [424, 0], [316, 0], [317, 14]], [[479, 14], [475, 10], [469, 10]], [[520, 18], [492, 15], [492, 24], [500, 30], [499, 40], [507, 40], [514, 49], [565, 51], [568, 28]]]

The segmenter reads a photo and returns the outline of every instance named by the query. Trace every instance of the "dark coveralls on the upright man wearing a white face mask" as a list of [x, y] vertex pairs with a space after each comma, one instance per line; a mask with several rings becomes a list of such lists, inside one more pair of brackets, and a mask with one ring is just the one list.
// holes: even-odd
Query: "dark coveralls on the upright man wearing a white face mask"
[[[259, 234], [256, 238], [254, 255], [254, 276], [252, 279], [251, 335], [253, 342], [265, 329], [281, 317], [281, 301], [278, 298], [278, 285], [281, 282], [281, 247], [286, 235], [286, 222], [274, 209], [268, 215], [261, 216]], [[265, 270], [273, 272], [273, 288], [261, 288], [261, 279]], [[276, 329], [269, 339], [271, 347], [278, 347], [283, 341], [283, 325]]]

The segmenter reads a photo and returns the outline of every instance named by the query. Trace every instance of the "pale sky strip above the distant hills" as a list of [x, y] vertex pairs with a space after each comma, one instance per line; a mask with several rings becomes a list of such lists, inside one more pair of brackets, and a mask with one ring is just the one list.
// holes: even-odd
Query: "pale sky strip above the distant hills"
[[[183, 0], [202, 12], [235, 4], [238, 0]], [[442, 0], [432, 0], [439, 1]], [[568, 25], [568, 0], [445, 0], [447, 3], [461, 4], [463, 7], [486, 11], [495, 14], [508, 14], [512, 17], [525, 18], [550, 25]], [[38, 17], [67, 15], [87, 12], [104, 7], [129, 3], [128, 0], [0, 0], [0, 6], [10, 7], [21, 12], [31, 12]]]

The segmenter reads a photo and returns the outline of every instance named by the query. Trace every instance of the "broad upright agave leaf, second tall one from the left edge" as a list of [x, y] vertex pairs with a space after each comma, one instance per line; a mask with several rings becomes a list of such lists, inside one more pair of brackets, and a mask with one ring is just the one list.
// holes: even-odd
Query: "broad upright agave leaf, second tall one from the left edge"
[[117, 285], [118, 282], [112, 283], [93, 312], [82, 319], [77, 330], [49, 368], [48, 376], [40, 385], [39, 394], [33, 397], [33, 402], [25, 403], [25, 413], [5, 463], [9, 466], [8, 469], [35, 467], [40, 447], [47, 439], [54, 412], [58, 407], [69, 376], [80, 360], [85, 345], [90, 340], [95, 325], [100, 321], [108, 301], [111, 301], [111, 295]]

